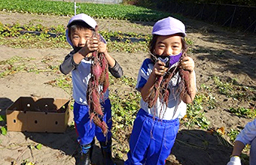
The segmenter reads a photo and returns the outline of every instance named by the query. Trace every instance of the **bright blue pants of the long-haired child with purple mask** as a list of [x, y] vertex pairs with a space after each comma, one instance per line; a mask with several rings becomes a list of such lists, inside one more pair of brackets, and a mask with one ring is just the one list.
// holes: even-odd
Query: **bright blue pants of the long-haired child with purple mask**
[[174, 145], [178, 127], [178, 118], [174, 120], [153, 119], [145, 110], [139, 110], [133, 124], [130, 151], [125, 164], [165, 164]]

